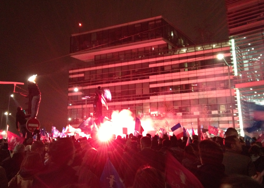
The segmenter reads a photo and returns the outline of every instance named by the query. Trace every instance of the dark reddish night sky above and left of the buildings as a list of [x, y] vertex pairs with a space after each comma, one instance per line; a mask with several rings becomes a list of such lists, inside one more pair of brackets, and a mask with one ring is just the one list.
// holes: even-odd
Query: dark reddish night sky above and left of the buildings
[[[23, 82], [16, 91], [27, 92], [29, 76], [42, 93], [41, 125], [62, 130], [67, 124], [68, 69], [79, 60], [69, 57], [70, 36], [82, 31], [162, 15], [196, 44], [228, 39], [224, 0], [34, 0], [0, 1], [0, 81]], [[13, 85], [0, 84], [0, 112], [7, 110]], [[10, 130], [15, 131], [18, 105], [10, 99]], [[1, 116], [0, 116], [1, 118]], [[2, 129], [6, 116], [2, 118]], [[1, 127], [0, 127], [1, 128]]]

